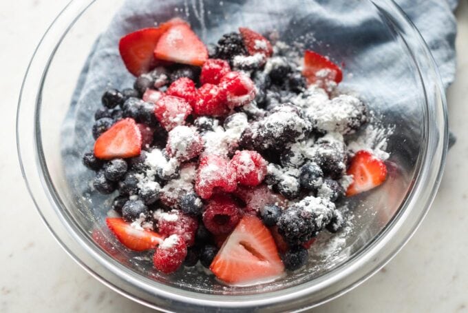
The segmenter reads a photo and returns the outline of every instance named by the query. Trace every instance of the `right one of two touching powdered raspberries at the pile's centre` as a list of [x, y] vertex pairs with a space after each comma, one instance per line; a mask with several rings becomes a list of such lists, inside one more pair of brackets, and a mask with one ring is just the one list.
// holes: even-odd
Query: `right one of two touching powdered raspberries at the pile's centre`
[[255, 151], [236, 151], [231, 160], [237, 181], [241, 185], [256, 186], [265, 179], [266, 161]]

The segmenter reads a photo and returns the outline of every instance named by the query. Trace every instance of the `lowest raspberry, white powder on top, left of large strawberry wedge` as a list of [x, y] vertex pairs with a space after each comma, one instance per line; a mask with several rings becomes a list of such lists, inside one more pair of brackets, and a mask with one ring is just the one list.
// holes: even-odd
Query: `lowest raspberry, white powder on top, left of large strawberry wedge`
[[187, 256], [187, 245], [182, 237], [173, 234], [164, 239], [154, 252], [153, 264], [160, 272], [170, 274], [178, 270]]

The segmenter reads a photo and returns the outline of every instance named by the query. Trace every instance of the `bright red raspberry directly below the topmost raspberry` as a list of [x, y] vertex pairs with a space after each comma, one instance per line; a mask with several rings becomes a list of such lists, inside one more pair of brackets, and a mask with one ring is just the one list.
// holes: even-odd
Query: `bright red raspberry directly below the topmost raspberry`
[[220, 117], [228, 112], [226, 107], [226, 92], [217, 85], [205, 83], [198, 89], [197, 101], [193, 107], [198, 115]]

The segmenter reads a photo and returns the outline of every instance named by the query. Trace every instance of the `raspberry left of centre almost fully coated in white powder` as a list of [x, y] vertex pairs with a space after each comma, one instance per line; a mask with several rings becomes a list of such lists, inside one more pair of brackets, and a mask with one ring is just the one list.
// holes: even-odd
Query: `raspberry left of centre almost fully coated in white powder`
[[203, 139], [193, 128], [176, 126], [169, 132], [166, 152], [181, 162], [189, 161], [203, 150]]

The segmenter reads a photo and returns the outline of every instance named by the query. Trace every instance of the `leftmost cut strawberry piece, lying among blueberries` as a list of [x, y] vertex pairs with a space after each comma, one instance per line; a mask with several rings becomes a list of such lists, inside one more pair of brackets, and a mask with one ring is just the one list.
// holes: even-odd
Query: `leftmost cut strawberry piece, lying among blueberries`
[[141, 152], [142, 136], [134, 119], [122, 119], [101, 134], [94, 143], [98, 159], [131, 158]]

